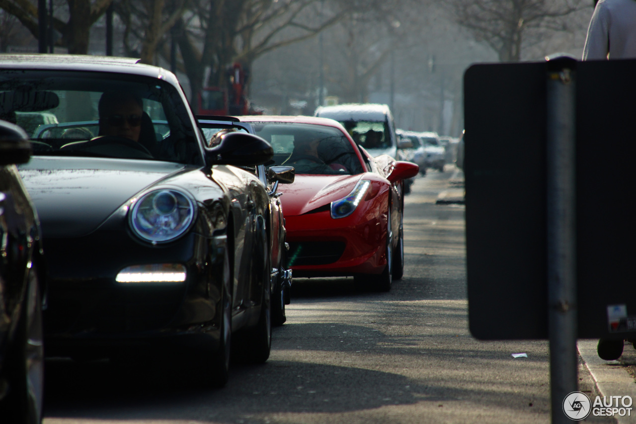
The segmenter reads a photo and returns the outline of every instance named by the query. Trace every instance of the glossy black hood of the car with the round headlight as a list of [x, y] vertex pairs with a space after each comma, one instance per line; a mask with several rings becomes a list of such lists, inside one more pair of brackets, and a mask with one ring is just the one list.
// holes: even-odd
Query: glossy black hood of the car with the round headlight
[[152, 160], [32, 157], [19, 171], [43, 236], [81, 237], [144, 188], [185, 168]]

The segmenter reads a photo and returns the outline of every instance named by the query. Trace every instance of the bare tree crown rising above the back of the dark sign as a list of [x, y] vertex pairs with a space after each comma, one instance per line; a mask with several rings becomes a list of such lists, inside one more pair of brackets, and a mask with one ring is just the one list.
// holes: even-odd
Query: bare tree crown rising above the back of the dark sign
[[450, 19], [495, 50], [499, 60], [513, 62], [522, 59], [524, 48], [554, 32], [568, 31], [569, 16], [584, 7], [579, 0], [447, 0], [445, 4]]

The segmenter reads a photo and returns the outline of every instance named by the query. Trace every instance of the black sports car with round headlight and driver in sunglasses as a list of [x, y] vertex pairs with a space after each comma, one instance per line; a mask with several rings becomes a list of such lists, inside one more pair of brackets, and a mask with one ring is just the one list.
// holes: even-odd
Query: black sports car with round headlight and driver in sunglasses
[[218, 385], [231, 338], [265, 362], [272, 284], [284, 274], [271, 255], [282, 218], [266, 187], [279, 175], [255, 171], [271, 146], [232, 132], [209, 147], [160, 67], [0, 56], [0, 117], [26, 127], [38, 114], [46, 123], [32, 125], [34, 157], [20, 174], [48, 251], [47, 355], [149, 348], [187, 355]]

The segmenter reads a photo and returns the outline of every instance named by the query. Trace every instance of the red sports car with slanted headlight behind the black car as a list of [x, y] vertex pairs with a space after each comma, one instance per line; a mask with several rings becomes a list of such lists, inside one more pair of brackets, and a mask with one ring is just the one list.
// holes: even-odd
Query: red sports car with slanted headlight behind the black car
[[328, 118], [239, 120], [272, 144], [272, 166], [296, 169], [294, 183], [278, 188], [294, 276], [354, 276], [390, 290], [404, 269], [402, 181], [418, 166], [371, 157]]

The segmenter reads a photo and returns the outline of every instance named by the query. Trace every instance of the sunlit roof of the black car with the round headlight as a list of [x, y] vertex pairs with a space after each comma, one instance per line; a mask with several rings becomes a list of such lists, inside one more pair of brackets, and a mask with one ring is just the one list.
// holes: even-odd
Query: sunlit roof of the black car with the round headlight
[[178, 84], [176, 76], [162, 67], [139, 63], [132, 57], [57, 54], [2, 54], [0, 69], [47, 69], [93, 71], [149, 76]]

